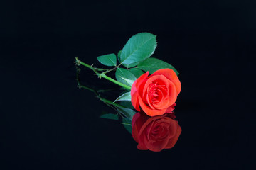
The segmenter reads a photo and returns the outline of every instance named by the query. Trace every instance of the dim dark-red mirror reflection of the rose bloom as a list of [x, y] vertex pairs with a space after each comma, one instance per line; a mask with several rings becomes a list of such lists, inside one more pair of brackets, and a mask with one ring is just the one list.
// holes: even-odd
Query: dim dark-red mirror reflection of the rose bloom
[[174, 147], [181, 127], [173, 118], [174, 114], [169, 113], [154, 117], [136, 113], [132, 118], [132, 137], [138, 142], [137, 148], [159, 152]]

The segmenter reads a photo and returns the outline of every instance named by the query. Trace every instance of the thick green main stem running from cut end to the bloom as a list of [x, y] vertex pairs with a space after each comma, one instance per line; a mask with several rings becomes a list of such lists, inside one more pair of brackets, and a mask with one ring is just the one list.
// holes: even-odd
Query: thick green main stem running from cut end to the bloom
[[103, 78], [105, 78], [105, 79], [107, 79], [107, 80], [109, 80], [109, 81], [112, 81], [114, 84], [117, 84], [117, 85], [119, 85], [119, 86], [122, 86], [122, 87], [124, 87], [124, 88], [126, 88], [126, 89], [129, 89], [129, 90], [132, 89], [131, 86], [127, 86], [126, 84], [122, 84], [121, 82], [116, 81], [116, 80], [112, 79], [111, 77], [108, 77], [108, 76], [107, 76], [106, 74], [104, 74], [104, 73], [99, 73], [99, 72], [97, 72], [97, 70], [95, 70], [94, 67], [92, 67], [92, 66], [90, 66], [89, 64], [86, 64], [86, 63], [81, 62], [80, 60], [78, 60], [78, 57], [75, 57], [75, 63], [78, 64], [78, 65], [82, 64], [83, 66], [85, 66], [85, 67], [87, 67], [87, 68], [89, 68], [89, 69], [92, 69], [92, 71], [95, 72], [95, 74], [97, 74], [97, 76], [100, 77], [100, 78], [103, 77]]

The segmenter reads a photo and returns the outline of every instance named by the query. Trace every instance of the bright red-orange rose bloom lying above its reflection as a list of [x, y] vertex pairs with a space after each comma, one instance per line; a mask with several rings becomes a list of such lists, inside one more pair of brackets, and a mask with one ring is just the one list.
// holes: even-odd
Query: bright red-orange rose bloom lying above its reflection
[[150, 116], [171, 113], [181, 91], [181, 82], [172, 69], [159, 69], [151, 76], [142, 74], [132, 84], [132, 105]]

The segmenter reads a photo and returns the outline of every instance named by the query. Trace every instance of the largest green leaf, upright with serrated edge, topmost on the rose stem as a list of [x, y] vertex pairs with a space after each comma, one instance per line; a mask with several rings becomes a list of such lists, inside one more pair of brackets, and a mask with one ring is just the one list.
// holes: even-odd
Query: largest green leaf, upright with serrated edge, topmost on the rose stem
[[150, 57], [156, 50], [156, 35], [151, 33], [138, 33], [130, 38], [120, 55], [122, 64], [141, 62]]

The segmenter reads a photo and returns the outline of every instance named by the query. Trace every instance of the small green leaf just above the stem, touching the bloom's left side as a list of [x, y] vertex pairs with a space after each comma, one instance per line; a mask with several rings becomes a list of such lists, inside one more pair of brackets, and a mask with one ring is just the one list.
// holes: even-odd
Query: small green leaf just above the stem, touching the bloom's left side
[[136, 80], [134, 74], [129, 72], [127, 69], [117, 68], [115, 73], [117, 81], [120, 81], [123, 84], [127, 84], [128, 86], [132, 86], [133, 82]]

